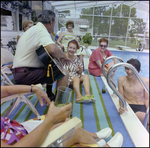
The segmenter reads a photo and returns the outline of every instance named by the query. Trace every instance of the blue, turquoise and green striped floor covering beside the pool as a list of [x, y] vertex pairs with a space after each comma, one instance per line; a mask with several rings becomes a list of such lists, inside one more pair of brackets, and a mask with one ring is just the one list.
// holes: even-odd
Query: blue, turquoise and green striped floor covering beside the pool
[[[135, 147], [125, 126], [113, 104], [113, 101], [106, 90], [106, 93], [101, 93], [103, 81], [101, 77], [95, 77], [89, 74], [88, 70], [85, 71], [90, 78], [90, 91], [91, 95], [94, 95], [96, 103], [78, 104], [75, 103], [75, 92], [72, 90], [71, 102], [73, 104], [72, 118], [78, 117], [82, 120], [82, 127], [89, 132], [97, 132], [103, 128], [110, 127], [112, 129], [112, 135], [106, 139], [106, 142], [114, 136], [116, 132], [120, 132], [123, 137], [123, 147]], [[53, 91], [55, 92], [56, 83], [53, 85]], [[84, 88], [80, 85], [81, 94], [84, 95]], [[34, 104], [36, 96], [29, 98]], [[7, 101], [1, 105], [1, 116], [10, 108], [10, 101]], [[37, 102], [36, 109], [40, 115], [46, 114], [48, 107], [44, 105], [40, 106]], [[24, 103], [20, 103], [14, 111], [9, 115], [12, 120], [17, 120], [19, 123], [35, 118], [35, 114]]]

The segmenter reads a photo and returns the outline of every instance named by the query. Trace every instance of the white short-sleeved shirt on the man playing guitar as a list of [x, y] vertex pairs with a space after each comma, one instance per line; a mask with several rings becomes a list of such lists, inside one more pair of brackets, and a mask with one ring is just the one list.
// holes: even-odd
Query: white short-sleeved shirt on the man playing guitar
[[43, 67], [43, 63], [36, 54], [36, 49], [43, 45], [55, 44], [46, 27], [38, 22], [23, 33], [16, 47], [13, 68]]

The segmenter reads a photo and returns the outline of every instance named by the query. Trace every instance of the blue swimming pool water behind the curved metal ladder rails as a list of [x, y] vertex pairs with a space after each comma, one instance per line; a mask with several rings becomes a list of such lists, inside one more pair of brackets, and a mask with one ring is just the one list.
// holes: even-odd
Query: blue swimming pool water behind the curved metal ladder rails
[[[128, 51], [112, 51], [114, 56], [120, 57], [124, 62], [127, 62], [129, 59], [134, 58], [138, 59], [141, 63], [141, 71], [139, 72], [140, 76], [146, 77], [149, 79], [149, 53], [144, 52], [128, 52]], [[109, 61], [108, 61], [109, 62]], [[117, 79], [121, 76], [126, 76], [124, 67], [119, 67], [114, 76], [114, 82], [117, 85]]]

